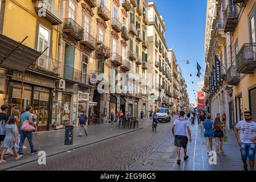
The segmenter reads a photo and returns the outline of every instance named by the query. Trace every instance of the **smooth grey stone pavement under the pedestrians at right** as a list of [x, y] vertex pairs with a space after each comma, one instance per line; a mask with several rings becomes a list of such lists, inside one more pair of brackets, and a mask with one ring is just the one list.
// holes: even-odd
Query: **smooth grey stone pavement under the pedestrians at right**
[[[177, 164], [176, 147], [174, 137], [168, 138], [162, 146], [154, 151], [147, 160], [135, 168], [138, 171], [241, 171], [243, 164], [241, 160], [240, 147], [237, 144], [234, 131], [226, 129], [228, 142], [223, 143], [224, 154], [217, 154], [217, 164], [210, 165], [207, 154], [204, 134], [200, 127], [190, 125], [192, 133], [192, 143], [188, 144], [189, 159], [184, 162], [184, 152], [181, 149], [181, 164]], [[171, 130], [170, 130], [171, 132]], [[213, 150], [216, 150], [215, 140], [213, 139]]]

